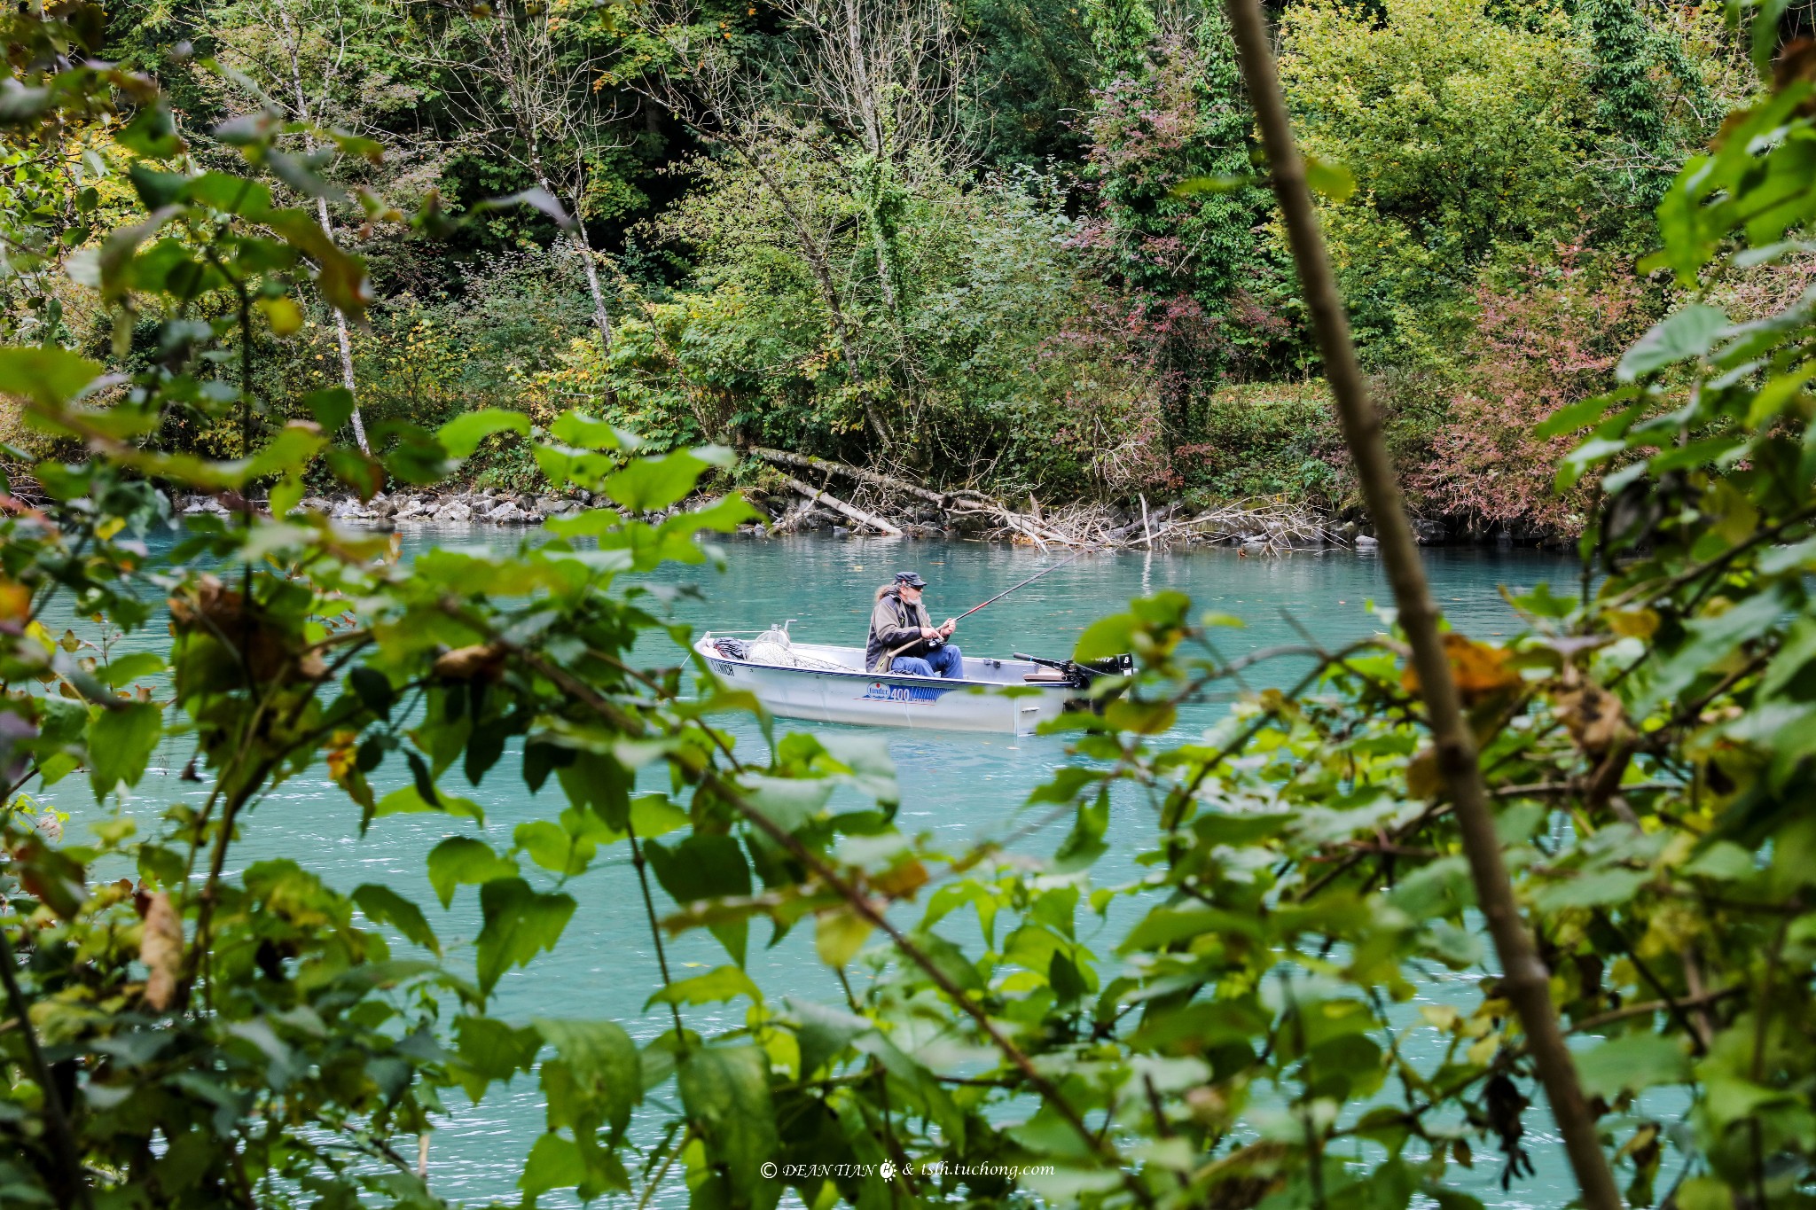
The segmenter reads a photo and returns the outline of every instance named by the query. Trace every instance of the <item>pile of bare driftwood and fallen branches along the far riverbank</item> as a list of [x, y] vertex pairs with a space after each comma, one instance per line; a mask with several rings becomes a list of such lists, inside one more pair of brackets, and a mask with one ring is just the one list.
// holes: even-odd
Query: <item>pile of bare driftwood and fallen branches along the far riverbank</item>
[[1239, 544], [1251, 551], [1286, 551], [1304, 546], [1351, 546], [1355, 526], [1344, 526], [1300, 504], [1246, 501], [1189, 513], [1182, 504], [1148, 508], [1140, 513], [1110, 504], [1070, 504], [1042, 510], [1035, 497], [1013, 508], [982, 492], [957, 488], [935, 492], [895, 475], [848, 466], [828, 459], [754, 446], [786, 484], [792, 501], [772, 515], [772, 528], [790, 533], [817, 528], [828, 515], [854, 532], [890, 537], [964, 535], [1031, 546], [1162, 550], [1191, 542]]

